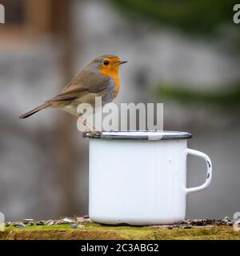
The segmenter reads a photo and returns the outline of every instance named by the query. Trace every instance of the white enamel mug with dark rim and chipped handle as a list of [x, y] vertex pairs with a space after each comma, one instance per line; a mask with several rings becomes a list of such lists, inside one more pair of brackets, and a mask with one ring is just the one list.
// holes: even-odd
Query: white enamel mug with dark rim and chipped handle
[[[187, 148], [191, 134], [103, 132], [90, 138], [89, 216], [106, 224], [157, 225], [186, 216], [186, 194], [206, 189], [210, 158]], [[186, 156], [206, 161], [206, 182], [186, 188]]]

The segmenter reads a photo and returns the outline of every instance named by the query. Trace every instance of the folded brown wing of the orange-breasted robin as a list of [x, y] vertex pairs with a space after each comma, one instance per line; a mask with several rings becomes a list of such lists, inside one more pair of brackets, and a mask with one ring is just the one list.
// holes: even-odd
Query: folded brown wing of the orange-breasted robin
[[[85, 72], [83, 72], [85, 71]], [[94, 71], [83, 70], [78, 74], [60, 94], [50, 98], [47, 102], [67, 101], [81, 98], [89, 93], [101, 93], [109, 86], [109, 78], [103, 74], [97, 74]]]

